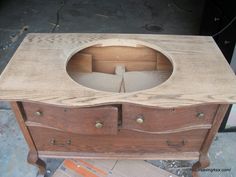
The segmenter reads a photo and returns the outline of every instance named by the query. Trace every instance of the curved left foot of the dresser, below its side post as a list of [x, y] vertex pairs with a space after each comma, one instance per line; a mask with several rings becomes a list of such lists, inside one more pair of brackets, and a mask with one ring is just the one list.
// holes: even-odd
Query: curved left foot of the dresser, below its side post
[[37, 152], [29, 151], [27, 161], [28, 163], [38, 167], [40, 175], [46, 173], [46, 163], [38, 157]]

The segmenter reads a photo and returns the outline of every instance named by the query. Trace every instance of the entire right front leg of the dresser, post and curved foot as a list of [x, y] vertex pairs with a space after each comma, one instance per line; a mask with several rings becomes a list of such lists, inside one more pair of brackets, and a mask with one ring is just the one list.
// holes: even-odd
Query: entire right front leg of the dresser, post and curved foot
[[199, 177], [198, 171], [202, 168], [206, 168], [210, 165], [210, 160], [208, 157], [208, 150], [212, 144], [212, 141], [220, 128], [221, 122], [223, 121], [224, 115], [228, 110], [229, 105], [219, 105], [214, 121], [212, 123], [212, 128], [209, 130], [204, 143], [200, 150], [199, 161], [196, 162], [192, 167], [192, 176]]

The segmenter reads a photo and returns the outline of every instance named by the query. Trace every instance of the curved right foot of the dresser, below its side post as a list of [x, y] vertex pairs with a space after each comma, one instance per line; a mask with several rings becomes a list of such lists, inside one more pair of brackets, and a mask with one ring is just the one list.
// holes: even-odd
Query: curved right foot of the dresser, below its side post
[[199, 160], [193, 164], [192, 167], [192, 176], [199, 177], [198, 171], [202, 168], [206, 168], [210, 165], [210, 160], [208, 154], [200, 154]]

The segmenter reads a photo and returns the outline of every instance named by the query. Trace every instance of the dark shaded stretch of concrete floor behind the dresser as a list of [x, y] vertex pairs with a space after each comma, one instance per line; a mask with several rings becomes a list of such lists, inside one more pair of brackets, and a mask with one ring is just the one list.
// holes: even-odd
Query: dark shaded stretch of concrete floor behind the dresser
[[29, 32], [198, 34], [202, 9], [203, 0], [1, 0], [0, 72]]

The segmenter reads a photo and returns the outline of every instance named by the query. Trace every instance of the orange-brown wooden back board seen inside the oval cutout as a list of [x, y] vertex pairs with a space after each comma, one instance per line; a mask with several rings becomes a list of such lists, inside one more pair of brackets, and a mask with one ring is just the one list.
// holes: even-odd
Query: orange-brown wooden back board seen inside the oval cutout
[[93, 56], [95, 72], [114, 73], [115, 67], [120, 64], [126, 66], [126, 71], [172, 69], [170, 61], [163, 54], [144, 46], [94, 46], [82, 50], [81, 53]]

